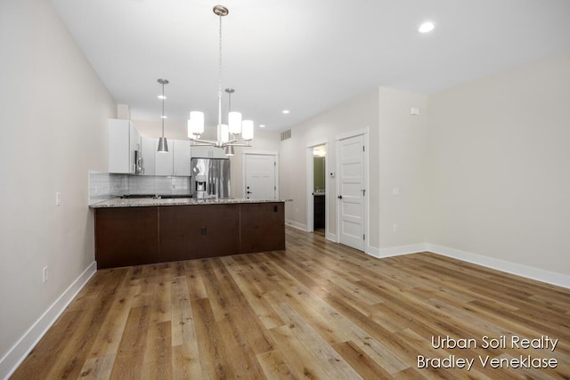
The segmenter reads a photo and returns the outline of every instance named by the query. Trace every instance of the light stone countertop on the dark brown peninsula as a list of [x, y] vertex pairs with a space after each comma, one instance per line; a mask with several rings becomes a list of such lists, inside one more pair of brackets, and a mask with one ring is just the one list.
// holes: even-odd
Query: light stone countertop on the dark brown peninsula
[[142, 206], [192, 206], [192, 205], [229, 205], [239, 203], [273, 203], [283, 199], [195, 199], [195, 198], [112, 198], [89, 205], [91, 208], [103, 207], [142, 207]]

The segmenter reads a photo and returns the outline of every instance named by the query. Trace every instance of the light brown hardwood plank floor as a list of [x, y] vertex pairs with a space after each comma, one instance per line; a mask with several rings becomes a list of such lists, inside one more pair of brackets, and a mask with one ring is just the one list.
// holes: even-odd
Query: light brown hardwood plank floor
[[12, 378], [567, 379], [569, 304], [562, 287], [288, 227], [286, 251], [98, 271]]

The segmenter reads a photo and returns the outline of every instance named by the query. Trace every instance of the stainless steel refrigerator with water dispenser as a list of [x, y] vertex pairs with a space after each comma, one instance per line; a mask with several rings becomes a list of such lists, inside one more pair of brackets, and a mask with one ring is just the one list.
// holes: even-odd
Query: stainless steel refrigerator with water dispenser
[[230, 160], [192, 158], [190, 186], [192, 198], [230, 198]]

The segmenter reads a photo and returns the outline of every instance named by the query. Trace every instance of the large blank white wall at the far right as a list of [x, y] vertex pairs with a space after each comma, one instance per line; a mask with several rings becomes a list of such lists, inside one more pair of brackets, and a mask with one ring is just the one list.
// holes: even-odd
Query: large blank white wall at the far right
[[570, 275], [570, 52], [428, 101], [428, 241]]

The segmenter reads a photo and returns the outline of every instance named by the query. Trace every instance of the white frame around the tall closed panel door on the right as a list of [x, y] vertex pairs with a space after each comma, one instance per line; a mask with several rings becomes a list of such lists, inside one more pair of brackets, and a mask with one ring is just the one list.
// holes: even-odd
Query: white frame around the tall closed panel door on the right
[[[370, 239], [371, 239], [371, 231], [370, 231], [370, 165], [369, 165], [369, 155], [368, 155], [368, 151], [369, 151], [369, 134], [370, 134], [370, 128], [367, 126], [365, 128], [362, 129], [357, 129], [354, 131], [350, 131], [350, 132], [346, 132], [346, 133], [340, 133], [337, 134], [335, 136], [335, 149], [336, 149], [336, 159], [335, 159], [335, 171], [336, 173], [340, 173], [340, 141], [341, 140], [346, 140], [349, 139], [351, 137], [356, 137], [356, 136], [363, 136], [363, 140], [364, 140], [364, 157], [363, 157], [363, 161], [364, 161], [364, 188], [366, 189], [365, 191], [365, 195], [364, 195], [364, 214], [362, 215], [362, 222], [363, 222], [363, 228], [362, 230], [364, 230], [364, 251], [365, 253], [368, 253], [369, 249], [368, 247], [370, 247]], [[336, 177], [336, 175], [335, 175]], [[337, 181], [337, 190], [336, 190], [336, 194], [335, 197], [338, 197], [338, 194], [340, 193], [340, 182]], [[337, 211], [337, 243], [340, 243], [340, 203], [338, 202], [338, 200], [335, 202], [336, 205], [336, 211]]]

